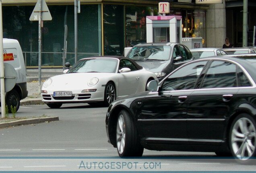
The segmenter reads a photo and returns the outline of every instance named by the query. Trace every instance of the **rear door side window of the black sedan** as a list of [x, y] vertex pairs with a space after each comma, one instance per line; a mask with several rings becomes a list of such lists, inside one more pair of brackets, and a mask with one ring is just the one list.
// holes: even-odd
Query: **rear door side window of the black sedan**
[[213, 61], [202, 81], [202, 89], [237, 87], [236, 65], [225, 61]]

